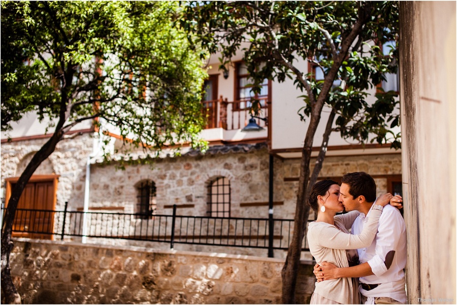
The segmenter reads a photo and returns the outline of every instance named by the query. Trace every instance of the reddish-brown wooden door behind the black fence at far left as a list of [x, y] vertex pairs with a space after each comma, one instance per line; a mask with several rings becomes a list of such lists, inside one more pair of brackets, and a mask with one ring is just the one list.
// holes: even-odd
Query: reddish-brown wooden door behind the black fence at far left
[[[7, 190], [12, 190], [14, 185], [14, 182], [10, 182]], [[55, 191], [56, 179], [27, 183], [19, 198], [13, 223], [13, 237], [52, 239], [52, 234], [41, 232], [51, 233], [53, 230], [55, 213], [51, 211], [55, 208]], [[7, 198], [9, 199], [9, 196]]]

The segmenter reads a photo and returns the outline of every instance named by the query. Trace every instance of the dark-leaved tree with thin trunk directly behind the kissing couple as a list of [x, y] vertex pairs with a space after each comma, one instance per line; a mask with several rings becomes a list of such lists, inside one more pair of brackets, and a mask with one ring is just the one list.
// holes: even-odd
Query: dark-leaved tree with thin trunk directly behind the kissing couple
[[[367, 102], [367, 89], [373, 88], [386, 73], [397, 71], [397, 51], [388, 54], [380, 46], [396, 41], [397, 2], [191, 2], [181, 20], [183, 27], [196, 34], [190, 41], [221, 52], [220, 69], [226, 69], [237, 52], [253, 79], [253, 91], [260, 90], [265, 78], [283, 82], [293, 79], [304, 100], [299, 110], [309, 122], [303, 145], [293, 240], [282, 270], [282, 301], [295, 303], [297, 270], [309, 206], [306, 198], [316, 182], [332, 131], [342, 138], [361, 143], [390, 142], [400, 146], [399, 134], [390, 131], [398, 125], [396, 92], [376, 94]], [[194, 40], [198, 38], [198, 40]], [[309, 61], [321, 69], [323, 80], [299, 68]], [[299, 93], [300, 94], [300, 93]], [[310, 171], [311, 149], [324, 105], [331, 111], [323, 141]], [[253, 101], [253, 110], [258, 110]], [[373, 137], [375, 134], [375, 137]]]

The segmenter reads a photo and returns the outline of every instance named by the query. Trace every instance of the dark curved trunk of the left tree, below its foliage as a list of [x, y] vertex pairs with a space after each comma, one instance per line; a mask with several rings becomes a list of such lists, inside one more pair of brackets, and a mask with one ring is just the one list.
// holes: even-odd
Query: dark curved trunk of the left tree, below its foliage
[[11, 233], [13, 231], [14, 216], [16, 214], [17, 205], [19, 198], [24, 190], [28, 180], [35, 173], [38, 166], [46, 160], [51, 153], [55, 150], [57, 143], [62, 138], [63, 131], [56, 131], [52, 137], [46, 142], [43, 147], [34, 155], [30, 160], [24, 172], [19, 177], [16, 185], [14, 186], [11, 197], [8, 200], [8, 206], [6, 209], [3, 227], [2, 227], [2, 299], [5, 303], [9, 304], [20, 304], [21, 297], [14, 286], [13, 279], [11, 278], [10, 269], [10, 253], [13, 249], [13, 241], [11, 240]]

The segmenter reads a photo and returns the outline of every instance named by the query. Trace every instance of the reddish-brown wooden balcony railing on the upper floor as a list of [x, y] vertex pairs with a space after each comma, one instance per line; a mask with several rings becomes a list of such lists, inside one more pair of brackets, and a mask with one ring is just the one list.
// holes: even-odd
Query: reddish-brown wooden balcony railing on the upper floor
[[[257, 117], [268, 117], [268, 98], [259, 98], [260, 111]], [[207, 119], [205, 129], [223, 128], [226, 130], [240, 129], [246, 126], [251, 118], [251, 102], [249, 99], [228, 101], [222, 97], [203, 101], [203, 113]], [[259, 126], [267, 126], [266, 122], [256, 119]]]

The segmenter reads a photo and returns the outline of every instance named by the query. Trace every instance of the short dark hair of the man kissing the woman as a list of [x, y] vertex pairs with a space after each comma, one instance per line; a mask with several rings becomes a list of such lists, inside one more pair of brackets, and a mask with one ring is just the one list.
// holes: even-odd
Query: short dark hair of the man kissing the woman
[[349, 185], [349, 194], [354, 199], [363, 195], [367, 202], [376, 200], [376, 183], [373, 177], [365, 172], [344, 174], [341, 183]]

